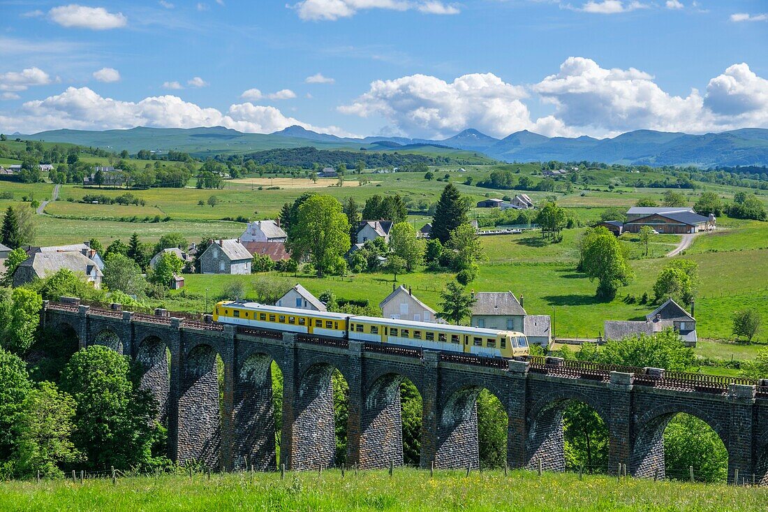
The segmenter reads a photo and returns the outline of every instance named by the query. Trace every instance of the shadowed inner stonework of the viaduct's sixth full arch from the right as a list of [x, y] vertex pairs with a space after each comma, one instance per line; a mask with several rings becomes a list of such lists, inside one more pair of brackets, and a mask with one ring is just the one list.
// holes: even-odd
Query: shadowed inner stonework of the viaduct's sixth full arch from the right
[[270, 354], [258, 352], [245, 357], [237, 368], [233, 407], [235, 469], [266, 471], [277, 467], [273, 362], [282, 373]]

